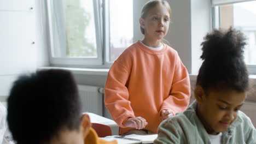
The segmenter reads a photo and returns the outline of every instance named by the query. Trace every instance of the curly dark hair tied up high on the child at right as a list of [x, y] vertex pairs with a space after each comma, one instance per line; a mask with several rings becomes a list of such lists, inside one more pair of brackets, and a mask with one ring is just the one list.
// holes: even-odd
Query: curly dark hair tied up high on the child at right
[[208, 33], [201, 44], [203, 63], [196, 85], [206, 92], [209, 88], [247, 91], [248, 71], [243, 61], [245, 40], [243, 33], [234, 28]]

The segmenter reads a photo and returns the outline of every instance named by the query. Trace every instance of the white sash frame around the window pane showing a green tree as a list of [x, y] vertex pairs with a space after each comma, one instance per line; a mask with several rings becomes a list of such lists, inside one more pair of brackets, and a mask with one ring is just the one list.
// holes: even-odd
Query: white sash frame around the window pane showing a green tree
[[[101, 5], [100, 0], [94, 0], [94, 15], [95, 15], [95, 30], [96, 30], [96, 45], [97, 45], [97, 58], [94, 57], [86, 57], [86, 58], [70, 58], [70, 57], [53, 57], [53, 50], [56, 50], [56, 46], [66, 47], [66, 38], [65, 38], [65, 24], [64, 17], [62, 14], [61, 8], [57, 11], [53, 11], [51, 7], [53, 5], [62, 5], [62, 1], [60, 0], [47, 0], [47, 8], [48, 8], [48, 20], [49, 20], [49, 36], [50, 36], [50, 49], [49, 49], [49, 57], [51, 66], [57, 67], [78, 67], [78, 68], [94, 68], [100, 65], [103, 65], [103, 43], [102, 43], [102, 26], [100, 19], [100, 11]], [[54, 3], [54, 4], [53, 4]], [[54, 15], [57, 15], [54, 17]], [[62, 16], [62, 17], [61, 17]], [[58, 22], [58, 26], [53, 26], [53, 21], [58, 17], [61, 21]], [[55, 32], [54, 32], [55, 31]], [[57, 37], [56, 34], [59, 34], [60, 37]], [[63, 37], [61, 37], [63, 36]], [[62, 56], [65, 56], [65, 52], [61, 52]]]

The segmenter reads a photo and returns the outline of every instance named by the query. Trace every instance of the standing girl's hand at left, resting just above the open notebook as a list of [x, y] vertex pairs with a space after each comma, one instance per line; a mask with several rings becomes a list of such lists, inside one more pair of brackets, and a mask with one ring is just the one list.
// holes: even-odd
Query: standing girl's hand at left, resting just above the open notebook
[[125, 127], [132, 127], [136, 129], [143, 129], [146, 127], [148, 122], [142, 117], [127, 118], [125, 121]]

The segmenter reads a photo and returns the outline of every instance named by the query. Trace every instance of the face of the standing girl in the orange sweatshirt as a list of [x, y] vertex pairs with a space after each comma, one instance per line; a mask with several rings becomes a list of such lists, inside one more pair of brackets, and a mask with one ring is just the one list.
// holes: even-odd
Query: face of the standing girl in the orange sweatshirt
[[145, 30], [145, 38], [161, 40], [167, 34], [170, 14], [163, 4], [157, 4], [150, 9], [145, 19], [140, 18], [141, 27]]

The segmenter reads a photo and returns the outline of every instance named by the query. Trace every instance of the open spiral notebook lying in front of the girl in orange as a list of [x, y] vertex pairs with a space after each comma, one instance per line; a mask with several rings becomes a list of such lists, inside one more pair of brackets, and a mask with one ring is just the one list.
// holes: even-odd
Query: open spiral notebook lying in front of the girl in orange
[[119, 135], [112, 135], [106, 136], [102, 139], [104, 140], [117, 140], [118, 144], [131, 144], [131, 143], [153, 143], [153, 141], [158, 137], [157, 134], [155, 135], [126, 135], [126, 136], [119, 136]]

